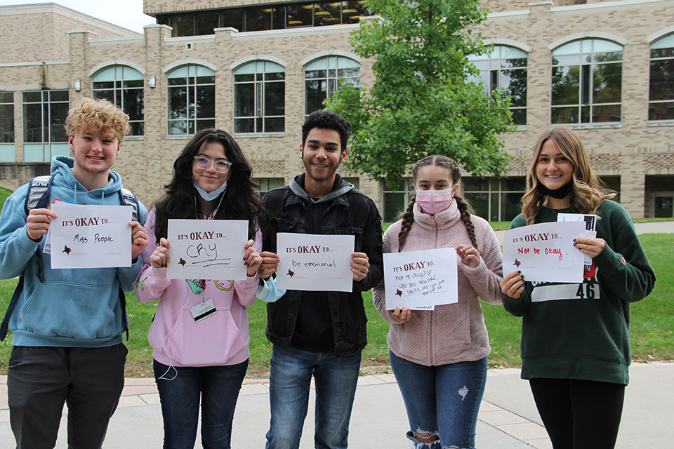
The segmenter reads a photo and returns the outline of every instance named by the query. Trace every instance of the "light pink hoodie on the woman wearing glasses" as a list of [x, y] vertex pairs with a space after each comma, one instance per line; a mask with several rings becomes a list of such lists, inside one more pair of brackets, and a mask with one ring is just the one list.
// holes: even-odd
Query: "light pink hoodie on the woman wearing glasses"
[[[206, 280], [204, 298], [213, 300], [216, 313], [197, 322], [190, 308], [201, 304], [200, 279], [168, 279], [166, 268], [154, 268], [150, 255], [154, 243], [155, 210], [147, 214], [145, 230], [150, 244], [143, 250], [145, 265], [134, 283], [140, 302], [159, 298], [147, 339], [154, 359], [168, 366], [221, 366], [242, 363], [249, 357], [248, 311], [255, 302], [258, 275], [244, 281]], [[253, 245], [262, 248], [258, 230]], [[242, 260], [243, 263], [243, 260]]]

